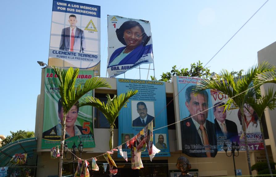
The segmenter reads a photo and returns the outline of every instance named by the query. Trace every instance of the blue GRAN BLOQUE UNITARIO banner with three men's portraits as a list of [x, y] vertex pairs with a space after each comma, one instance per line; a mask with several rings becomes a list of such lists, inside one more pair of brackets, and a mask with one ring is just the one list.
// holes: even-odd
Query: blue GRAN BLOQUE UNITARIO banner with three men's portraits
[[[127, 141], [153, 120], [153, 144], [161, 150], [156, 156], [170, 156], [167, 126], [165, 82], [117, 78], [117, 94], [138, 90], [119, 114], [118, 145], [130, 155]], [[154, 130], [160, 127], [162, 129]], [[148, 156], [148, 152], [142, 152]]]

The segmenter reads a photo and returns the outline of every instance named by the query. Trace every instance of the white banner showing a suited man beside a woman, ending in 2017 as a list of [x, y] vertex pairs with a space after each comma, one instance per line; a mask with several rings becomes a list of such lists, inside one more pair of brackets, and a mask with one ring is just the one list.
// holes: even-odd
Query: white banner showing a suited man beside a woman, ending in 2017
[[[227, 144], [228, 149], [231, 143], [237, 142], [240, 150], [245, 151], [245, 136], [249, 150], [264, 150], [260, 122], [254, 109], [245, 104], [243, 107], [246, 134], [242, 130], [242, 115], [239, 109], [225, 110], [224, 102], [227, 95], [211, 90], [212, 112], [215, 118], [218, 151], [224, 151], [223, 145]], [[225, 102], [226, 103], [226, 102]]]

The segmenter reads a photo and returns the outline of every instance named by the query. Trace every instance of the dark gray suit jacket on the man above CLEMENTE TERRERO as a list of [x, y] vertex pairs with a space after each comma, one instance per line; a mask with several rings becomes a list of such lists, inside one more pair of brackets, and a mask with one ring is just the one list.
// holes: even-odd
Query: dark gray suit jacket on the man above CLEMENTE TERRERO
[[[83, 52], [86, 48], [84, 32], [78, 27], [76, 27], [75, 29], [76, 32], [74, 40], [74, 50], [78, 50], [77, 52]], [[70, 51], [70, 35], [70, 27], [62, 29], [60, 39], [60, 50]]]

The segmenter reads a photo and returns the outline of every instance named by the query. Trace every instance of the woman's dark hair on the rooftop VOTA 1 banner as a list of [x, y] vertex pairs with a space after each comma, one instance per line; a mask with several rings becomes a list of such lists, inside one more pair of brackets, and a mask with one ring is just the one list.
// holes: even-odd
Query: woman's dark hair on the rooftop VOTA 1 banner
[[143, 37], [143, 39], [142, 39], [143, 42], [142, 43], [145, 46], [149, 42], [151, 36], [147, 36], [146, 33], [145, 33], [144, 28], [142, 27], [142, 25], [140, 25], [140, 23], [138, 23], [134, 20], [126, 21], [118, 29], [116, 29], [116, 35], [117, 35], [118, 40], [122, 44], [126, 45], [126, 41], [123, 38], [125, 30], [128, 30], [128, 29], [130, 29], [132, 27], [136, 27], [136, 26], [138, 26], [141, 29], [142, 37]]

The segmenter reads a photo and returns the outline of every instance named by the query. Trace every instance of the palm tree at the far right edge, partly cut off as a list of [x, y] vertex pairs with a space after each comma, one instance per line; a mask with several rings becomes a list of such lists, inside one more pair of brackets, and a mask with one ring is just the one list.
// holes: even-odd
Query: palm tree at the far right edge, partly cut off
[[263, 115], [266, 107], [268, 107], [268, 109], [270, 109], [270, 110], [273, 110], [276, 107], [276, 91], [273, 93], [273, 87], [270, 87], [268, 89], [268, 91], [266, 91], [265, 95], [262, 96], [261, 99], [249, 98], [247, 100], [247, 104], [249, 104], [254, 109], [254, 111], [256, 112], [256, 114], [258, 116], [261, 132], [262, 132], [262, 142], [264, 144], [264, 149], [265, 149], [265, 153], [266, 153], [266, 162], [267, 162], [269, 173], [270, 173], [271, 177], [273, 177], [271, 167], [270, 167], [270, 162], [268, 159], [267, 150], [266, 150], [264, 130], [263, 130], [261, 118], [262, 118], [262, 115]]

